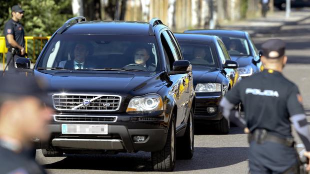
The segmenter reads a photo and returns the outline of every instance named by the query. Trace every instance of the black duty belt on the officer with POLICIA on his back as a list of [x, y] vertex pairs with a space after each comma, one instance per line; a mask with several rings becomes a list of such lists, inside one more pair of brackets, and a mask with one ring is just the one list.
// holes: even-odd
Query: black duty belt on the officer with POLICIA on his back
[[256, 129], [253, 133], [248, 134], [248, 143], [255, 141], [257, 144], [262, 144], [263, 142], [273, 142], [288, 147], [293, 147], [294, 139], [293, 138], [281, 138], [275, 135], [268, 133], [265, 129]]

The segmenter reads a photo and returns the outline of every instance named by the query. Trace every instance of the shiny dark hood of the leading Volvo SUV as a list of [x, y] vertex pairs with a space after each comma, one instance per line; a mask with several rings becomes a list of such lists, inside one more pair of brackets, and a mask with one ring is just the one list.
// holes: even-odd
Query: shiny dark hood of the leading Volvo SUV
[[56, 93], [156, 93], [165, 84], [158, 80], [161, 73], [154, 72], [46, 72], [35, 70], [34, 75], [46, 79], [49, 91]]

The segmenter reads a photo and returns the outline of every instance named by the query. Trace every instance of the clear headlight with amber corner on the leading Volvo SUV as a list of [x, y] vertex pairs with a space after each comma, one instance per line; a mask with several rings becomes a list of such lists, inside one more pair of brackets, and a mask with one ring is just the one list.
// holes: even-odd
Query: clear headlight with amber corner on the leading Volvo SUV
[[126, 112], [136, 111], [162, 111], [162, 99], [158, 94], [147, 94], [133, 97], [127, 107]]

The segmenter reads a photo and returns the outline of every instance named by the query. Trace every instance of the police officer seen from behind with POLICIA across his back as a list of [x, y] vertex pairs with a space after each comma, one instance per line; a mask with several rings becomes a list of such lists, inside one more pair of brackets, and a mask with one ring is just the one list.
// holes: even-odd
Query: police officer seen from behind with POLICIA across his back
[[[287, 61], [285, 43], [271, 39], [262, 44], [265, 69], [242, 79], [220, 102], [223, 116], [249, 131], [250, 174], [299, 174], [291, 123], [310, 151], [310, 132], [297, 86], [282, 75]], [[245, 117], [233, 110], [244, 106]], [[309, 157], [308, 153], [304, 154]], [[307, 170], [309, 170], [309, 165]]]

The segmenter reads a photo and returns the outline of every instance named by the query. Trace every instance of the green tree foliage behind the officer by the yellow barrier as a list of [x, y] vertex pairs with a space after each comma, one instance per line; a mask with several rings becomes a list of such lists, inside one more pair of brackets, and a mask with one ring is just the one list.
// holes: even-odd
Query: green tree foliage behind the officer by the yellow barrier
[[19, 4], [25, 11], [21, 19], [25, 35], [48, 36], [72, 17], [70, 0], [5, 0], [0, 3], [0, 29], [11, 18], [11, 6]]

